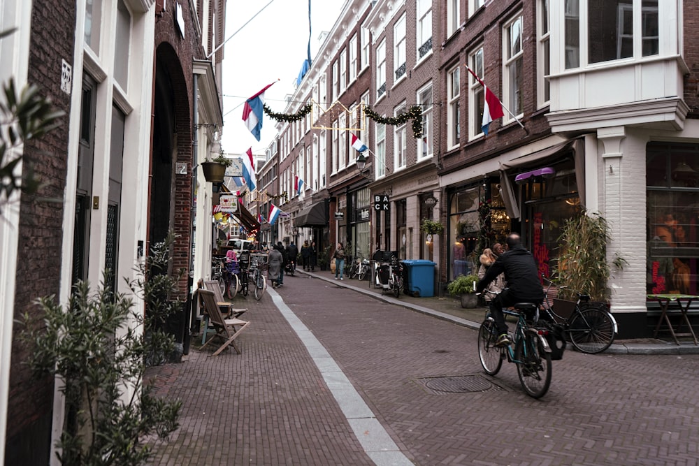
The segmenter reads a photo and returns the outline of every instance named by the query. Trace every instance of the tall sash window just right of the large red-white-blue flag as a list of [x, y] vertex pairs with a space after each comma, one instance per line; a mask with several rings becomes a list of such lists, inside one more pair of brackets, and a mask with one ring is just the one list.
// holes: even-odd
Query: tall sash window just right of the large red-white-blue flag
[[[505, 47], [505, 70], [503, 73], [503, 87], [505, 89], [505, 106], [514, 115], [524, 112], [522, 95], [522, 64], [524, 63], [522, 50], [522, 17], [512, 20], [503, 31], [503, 45]], [[507, 117], [507, 115], [505, 115]]]

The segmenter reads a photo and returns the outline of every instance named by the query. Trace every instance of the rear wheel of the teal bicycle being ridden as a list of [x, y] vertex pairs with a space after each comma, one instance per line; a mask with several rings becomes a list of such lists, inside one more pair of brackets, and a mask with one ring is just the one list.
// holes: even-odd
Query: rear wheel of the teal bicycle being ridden
[[541, 398], [551, 385], [551, 354], [544, 351], [539, 337], [531, 332], [517, 341], [514, 348], [519, 383], [527, 395]]

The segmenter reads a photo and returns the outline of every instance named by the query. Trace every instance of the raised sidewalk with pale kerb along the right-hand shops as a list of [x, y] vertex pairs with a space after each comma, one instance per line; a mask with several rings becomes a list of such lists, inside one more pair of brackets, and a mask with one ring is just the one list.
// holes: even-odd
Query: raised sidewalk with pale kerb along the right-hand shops
[[[380, 288], [371, 284], [369, 280], [359, 282], [356, 279], [335, 280], [332, 272], [329, 270], [319, 270], [317, 272], [306, 272], [298, 269], [296, 273], [305, 273], [324, 279], [328, 282], [333, 282], [338, 286], [364, 293], [367, 296], [373, 296], [376, 299], [383, 300], [386, 303], [402, 305], [415, 312], [421, 312], [435, 316], [438, 319], [444, 319], [453, 323], [465, 326], [468, 328], [478, 328], [484, 319], [486, 309], [477, 307], [475, 309], [463, 309], [459, 299], [449, 296], [433, 296], [430, 298], [415, 298], [413, 296], [401, 293], [399, 298], [391, 294], [382, 293]], [[639, 339], [639, 340], [616, 340], [612, 346], [605, 351], [606, 354], [699, 354], [699, 346], [693, 342], [680, 341], [677, 346], [675, 342], [659, 340], [655, 338]]]

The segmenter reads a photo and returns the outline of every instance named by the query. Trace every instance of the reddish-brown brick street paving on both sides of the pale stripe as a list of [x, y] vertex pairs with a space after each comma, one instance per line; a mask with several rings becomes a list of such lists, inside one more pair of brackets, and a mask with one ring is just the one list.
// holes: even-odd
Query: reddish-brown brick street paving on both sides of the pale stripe
[[[698, 464], [699, 355], [566, 351], [549, 393], [533, 400], [514, 365], [483, 374], [469, 316], [437, 319], [357, 289], [375, 293], [330, 272], [285, 277], [276, 291], [412, 463]], [[449, 315], [456, 307], [398, 300]], [[234, 301], [252, 321], [238, 339], [243, 354], [192, 347], [185, 362], [150, 370], [160, 395], [184, 402], [180, 429], [154, 442], [151, 464], [379, 464], [270, 294]]]

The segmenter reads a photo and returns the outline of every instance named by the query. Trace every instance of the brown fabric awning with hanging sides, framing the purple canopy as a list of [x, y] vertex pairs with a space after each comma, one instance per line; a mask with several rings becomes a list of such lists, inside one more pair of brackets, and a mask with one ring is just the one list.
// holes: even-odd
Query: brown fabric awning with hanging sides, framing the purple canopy
[[[565, 143], [547, 147], [538, 152], [533, 152], [532, 154], [518, 157], [517, 159], [500, 163], [500, 191], [503, 196], [503, 201], [505, 201], [507, 215], [510, 218], [519, 219], [521, 214], [510, 177], [521, 174], [521, 172], [525, 170], [532, 170], [533, 168], [545, 170], [545, 168], [547, 168], [545, 166], [549, 164], [549, 162], [560, 159], [566, 152], [572, 152], [574, 156], [577, 194], [580, 198], [580, 205], [585, 205], [585, 140], [584, 138], [576, 138], [565, 141]], [[526, 175], [526, 173], [523, 175]], [[543, 173], [540, 174], [543, 175]]]

